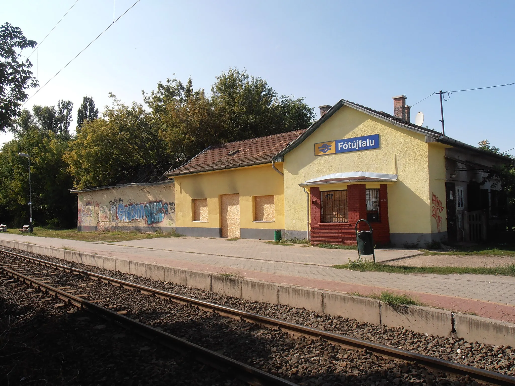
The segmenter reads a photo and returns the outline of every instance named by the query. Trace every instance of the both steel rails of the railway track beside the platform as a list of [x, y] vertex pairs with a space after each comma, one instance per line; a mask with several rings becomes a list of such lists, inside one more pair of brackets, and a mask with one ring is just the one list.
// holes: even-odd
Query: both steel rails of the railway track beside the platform
[[[417, 363], [418, 365], [424, 366], [428, 369], [434, 369], [440, 372], [454, 374], [458, 376], [465, 376], [467, 378], [472, 378], [480, 382], [497, 385], [515, 385], [515, 378], [513, 377], [483, 369], [477, 369], [476, 367], [471, 367], [439, 358], [421, 355], [418, 353], [409, 352], [407, 350], [372, 343], [365, 340], [351, 338], [341, 334], [335, 334], [333, 332], [323, 331], [320, 329], [290, 323], [279, 319], [269, 318], [263, 315], [258, 315], [255, 313], [246, 312], [235, 308], [230, 308], [214, 303], [201, 301], [198, 299], [194, 299], [193, 297], [182, 296], [179, 294], [159, 289], [146, 287], [136, 283], [130, 283], [125, 280], [101, 275], [94, 272], [84, 271], [73, 267], [68, 267], [65, 265], [57, 264], [55, 262], [46, 261], [35, 257], [25, 256], [18, 253], [2, 250], [0, 250], [0, 253], [5, 256], [14, 257], [16, 259], [32, 262], [45, 267], [50, 267], [60, 271], [80, 275], [117, 287], [123, 287], [133, 291], [138, 291], [142, 294], [152, 295], [159, 297], [161, 299], [171, 300], [183, 305], [187, 305], [188, 307], [197, 307], [199, 309], [215, 312], [220, 315], [224, 315], [225, 317], [233, 318], [236, 320], [247, 321], [258, 325], [267, 326], [269, 328], [282, 330], [296, 336], [323, 340], [326, 342], [330, 342], [331, 344], [346, 348], [365, 350], [365, 352], [373, 353], [377, 356], [393, 358], [410, 363]], [[159, 329], [152, 328], [151, 326], [140, 323], [139, 321], [134, 321], [131, 318], [125, 317], [124, 315], [111, 311], [107, 308], [98, 306], [92, 302], [86, 301], [79, 296], [74, 296], [71, 293], [54, 288], [46, 283], [41, 282], [40, 280], [26, 276], [23, 273], [16, 272], [15, 270], [10, 269], [8, 267], [2, 266], [0, 269], [4, 273], [12, 276], [13, 278], [30, 284], [32, 287], [37, 288], [39, 290], [47, 291], [51, 295], [59, 297], [63, 301], [71, 303], [79, 308], [84, 308], [88, 311], [97, 313], [98, 315], [101, 315], [101, 317], [104, 317], [106, 319], [114, 320], [116, 321], [116, 323], [121, 324], [124, 327], [129, 328], [134, 332], [143, 335], [147, 338], [158, 339], [167, 347], [178, 350], [181, 353], [188, 353], [188, 355], [191, 355], [191, 353], [195, 353], [194, 358], [203, 363], [209, 364], [210, 366], [213, 366], [217, 369], [231, 369], [231, 373], [233, 375], [236, 375], [239, 379], [245, 380], [250, 384], [294, 384], [289, 381], [285, 381], [284, 379], [270, 375], [268, 373], [261, 372], [260, 370], [254, 369], [254, 367], [248, 366], [244, 363], [237, 362], [218, 353], [211, 352], [210, 350], [202, 348], [198, 345], [193, 345], [193, 343], [186, 342], [183, 339], [174, 337], [170, 334], [166, 334], [165, 332], [160, 331]], [[190, 347], [189, 345], [193, 346]], [[268, 379], [266, 378], [267, 376], [270, 376], [271, 378]]]

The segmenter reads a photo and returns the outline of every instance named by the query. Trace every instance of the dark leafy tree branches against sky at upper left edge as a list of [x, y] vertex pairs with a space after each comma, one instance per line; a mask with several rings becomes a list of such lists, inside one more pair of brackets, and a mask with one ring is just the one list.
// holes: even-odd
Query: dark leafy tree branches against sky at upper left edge
[[36, 47], [36, 42], [27, 40], [18, 27], [6, 23], [0, 27], [0, 131], [5, 132], [12, 121], [20, 115], [26, 91], [36, 87], [32, 77], [32, 63], [23, 60], [21, 50]]

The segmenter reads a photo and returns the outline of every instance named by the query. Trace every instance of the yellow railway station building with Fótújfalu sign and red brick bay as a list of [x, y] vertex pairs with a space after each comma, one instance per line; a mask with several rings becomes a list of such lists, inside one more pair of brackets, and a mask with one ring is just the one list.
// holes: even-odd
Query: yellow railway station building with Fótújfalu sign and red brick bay
[[377, 244], [423, 247], [502, 230], [488, 177], [512, 162], [412, 124], [402, 95], [393, 115], [341, 99], [308, 129], [211, 146], [167, 177], [186, 236], [355, 244], [366, 219]]

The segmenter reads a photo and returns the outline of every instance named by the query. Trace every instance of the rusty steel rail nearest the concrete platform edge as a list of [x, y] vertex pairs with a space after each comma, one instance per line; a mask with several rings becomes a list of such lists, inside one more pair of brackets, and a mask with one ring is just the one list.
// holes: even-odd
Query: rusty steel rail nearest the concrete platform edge
[[330, 343], [338, 344], [340, 346], [349, 348], [366, 349], [377, 355], [399, 359], [406, 362], [416, 362], [424, 367], [429, 367], [431, 369], [443, 371], [445, 373], [451, 373], [460, 376], [469, 375], [471, 378], [474, 378], [475, 380], [481, 382], [496, 384], [500, 386], [515, 386], [515, 377], [511, 377], [508, 375], [495, 373], [483, 369], [477, 369], [476, 367], [468, 366], [465, 364], [451, 362], [448, 360], [418, 354], [407, 350], [402, 350], [400, 348], [390, 347], [378, 343], [368, 342], [362, 339], [351, 338], [345, 335], [336, 334], [334, 332], [323, 331], [317, 328], [308, 327], [296, 323], [290, 323], [280, 319], [269, 318], [252, 312], [221, 306], [214, 303], [204, 302], [198, 299], [194, 299], [192, 297], [182, 296], [175, 293], [158, 290], [155, 288], [142, 286], [139, 284], [126, 282], [125, 280], [120, 280], [113, 277], [100, 275], [98, 273], [93, 273], [73, 267], [64, 266], [61, 264], [57, 264], [55, 262], [42, 260], [35, 257], [29, 257], [4, 250], [0, 250], [0, 253], [37, 262], [38, 264], [42, 264], [48, 267], [54, 267], [60, 270], [73, 272], [76, 274], [80, 274], [82, 276], [89, 276], [92, 279], [99, 279], [102, 282], [109, 283], [115, 286], [123, 286], [125, 288], [137, 290], [142, 293], [153, 294], [163, 299], [169, 299], [178, 303], [196, 306], [198, 308], [208, 310], [211, 312], [216, 312], [230, 318], [246, 320], [248, 322], [253, 322], [271, 328], [278, 328], [283, 331], [289, 332], [293, 335], [304, 336], [313, 339], [323, 339]]

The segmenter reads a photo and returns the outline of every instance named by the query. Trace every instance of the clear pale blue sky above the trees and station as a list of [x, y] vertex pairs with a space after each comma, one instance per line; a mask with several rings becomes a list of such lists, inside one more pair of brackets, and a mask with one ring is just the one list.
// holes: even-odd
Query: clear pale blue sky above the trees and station
[[[134, 1], [115, 0], [116, 17]], [[40, 42], [74, 2], [1, 0], [0, 23]], [[229, 67], [315, 108], [345, 98], [388, 113], [400, 94], [412, 105], [439, 90], [515, 82], [513, 2], [253, 3], [141, 0], [26, 107], [70, 99], [76, 117], [83, 95], [100, 110], [109, 92], [141, 102], [142, 90], [174, 74], [209, 90]], [[40, 83], [112, 21], [112, 1], [79, 0], [30, 57]], [[471, 145], [489, 139], [502, 151], [515, 147], [514, 102], [515, 85], [455, 93], [444, 102], [445, 133]], [[441, 130], [436, 95], [412, 109], [413, 121], [418, 111], [424, 126]]]

